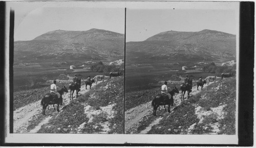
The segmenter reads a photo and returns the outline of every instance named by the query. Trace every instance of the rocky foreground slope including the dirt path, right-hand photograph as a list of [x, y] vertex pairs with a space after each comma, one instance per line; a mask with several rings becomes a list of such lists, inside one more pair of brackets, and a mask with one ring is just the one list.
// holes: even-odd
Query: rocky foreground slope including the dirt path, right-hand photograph
[[190, 98], [183, 102], [180, 94], [175, 95], [172, 112], [157, 110], [157, 116], [153, 115], [151, 101], [147, 101], [153, 98], [141, 93], [133, 93], [133, 100], [146, 102], [125, 111], [127, 134], [236, 134], [235, 77], [211, 82], [203, 91], [194, 86]]

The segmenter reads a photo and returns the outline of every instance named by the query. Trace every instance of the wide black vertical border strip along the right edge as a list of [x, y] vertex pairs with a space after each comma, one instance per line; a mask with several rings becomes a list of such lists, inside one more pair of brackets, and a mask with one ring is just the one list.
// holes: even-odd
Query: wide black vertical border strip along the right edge
[[254, 2], [240, 3], [239, 107], [240, 146], [253, 145]]

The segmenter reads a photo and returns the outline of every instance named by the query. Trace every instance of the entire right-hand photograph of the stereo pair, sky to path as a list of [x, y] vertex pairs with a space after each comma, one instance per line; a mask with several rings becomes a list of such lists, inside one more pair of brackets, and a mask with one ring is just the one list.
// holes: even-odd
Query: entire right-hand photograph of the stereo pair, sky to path
[[125, 134], [237, 134], [238, 20], [223, 8], [126, 9]]

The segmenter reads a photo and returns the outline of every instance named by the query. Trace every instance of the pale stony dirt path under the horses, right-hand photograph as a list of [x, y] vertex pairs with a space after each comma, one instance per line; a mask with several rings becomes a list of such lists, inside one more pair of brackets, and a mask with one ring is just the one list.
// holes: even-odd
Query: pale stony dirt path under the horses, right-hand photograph
[[[217, 82], [217, 81], [216, 81]], [[209, 85], [212, 82], [209, 82]], [[204, 87], [207, 87], [207, 84], [204, 85]], [[199, 91], [197, 90], [197, 86], [192, 87], [192, 92], [190, 93], [190, 97], [196, 95], [201, 91], [201, 87], [198, 88]], [[185, 99], [187, 99], [187, 92], [184, 96]], [[174, 96], [174, 107], [179, 106], [181, 104], [181, 91], [179, 94]], [[174, 109], [174, 107], [170, 108], [170, 111]], [[157, 111], [158, 112], [158, 111]], [[147, 115], [153, 114], [153, 107], [151, 106], [151, 101], [147, 102], [145, 104], [141, 104], [139, 106], [136, 106], [134, 108], [131, 108], [127, 111], [125, 111], [125, 133], [135, 133], [137, 132], [137, 128], [139, 126], [139, 122], [142, 119], [142, 117], [146, 117]], [[141, 131], [139, 134], [146, 134], [152, 126], [158, 124], [160, 120], [162, 119], [163, 116], [169, 115], [169, 113], [164, 113], [161, 114], [155, 118], [155, 120], [148, 126], [146, 127], [145, 130]]]

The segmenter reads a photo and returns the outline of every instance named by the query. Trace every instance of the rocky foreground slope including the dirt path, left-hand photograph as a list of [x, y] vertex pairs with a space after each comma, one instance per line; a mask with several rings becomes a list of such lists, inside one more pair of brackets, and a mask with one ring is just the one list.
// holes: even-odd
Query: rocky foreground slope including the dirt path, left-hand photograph
[[[66, 83], [67, 80], [60, 81]], [[37, 100], [26, 98], [35, 92], [41, 95]], [[19, 98], [16, 103], [26, 105], [16, 106], [14, 110], [14, 133], [123, 133], [123, 77], [93, 83], [92, 90], [86, 90], [82, 81], [78, 98], [74, 93], [74, 100], [71, 101], [70, 92], [63, 94], [60, 112], [53, 111], [52, 105], [49, 105], [46, 115], [42, 115], [40, 106], [40, 98], [46, 92], [37, 89], [22, 91], [14, 97], [17, 98], [20, 93], [26, 97]]]

